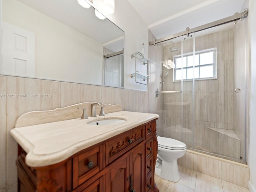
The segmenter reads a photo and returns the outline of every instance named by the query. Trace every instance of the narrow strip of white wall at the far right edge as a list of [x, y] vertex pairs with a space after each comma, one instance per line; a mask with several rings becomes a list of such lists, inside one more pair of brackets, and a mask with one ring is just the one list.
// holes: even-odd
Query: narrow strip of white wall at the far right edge
[[250, 63], [250, 130], [249, 130], [249, 167], [250, 192], [256, 192], [256, 1], [249, 0], [249, 63]]

